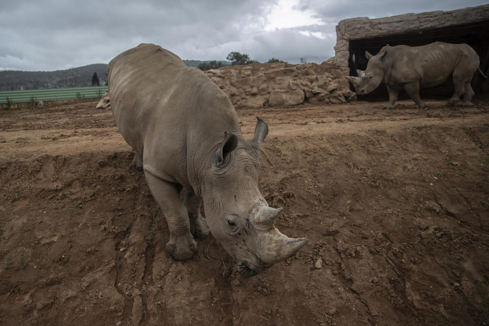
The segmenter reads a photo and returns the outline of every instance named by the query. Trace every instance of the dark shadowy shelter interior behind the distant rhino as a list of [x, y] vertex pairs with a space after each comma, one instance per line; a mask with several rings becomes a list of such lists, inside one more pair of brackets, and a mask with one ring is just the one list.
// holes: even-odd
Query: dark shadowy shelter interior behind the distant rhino
[[[351, 40], [349, 42], [349, 67], [350, 76], [357, 76], [357, 69], [365, 70], [368, 60], [365, 51], [376, 55], [385, 45], [409, 45], [420, 46], [433, 42], [466, 43], [479, 55], [480, 69], [489, 76], [489, 20], [465, 25], [447, 26], [445, 28], [411, 32], [399, 35], [383, 36], [363, 40]], [[354, 88], [350, 84], [350, 88]], [[474, 99], [489, 96], [489, 79], [485, 79], [478, 71], [472, 78], [472, 89], [475, 92]], [[453, 95], [453, 81], [451, 78], [444, 84], [421, 89], [420, 96], [423, 99], [447, 99]], [[357, 95], [359, 100], [386, 101], [389, 98], [386, 86], [381, 84], [377, 89], [367, 95]], [[404, 91], [399, 92], [399, 99], [409, 99]]]

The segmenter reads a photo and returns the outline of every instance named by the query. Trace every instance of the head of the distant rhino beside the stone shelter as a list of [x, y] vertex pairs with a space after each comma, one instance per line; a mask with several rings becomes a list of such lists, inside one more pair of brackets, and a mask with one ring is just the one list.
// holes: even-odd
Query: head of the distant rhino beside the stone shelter
[[355, 87], [355, 92], [358, 95], [368, 94], [381, 84], [386, 71], [386, 53], [387, 49], [379, 52], [376, 56], [372, 56], [368, 51], [365, 51], [365, 57], [368, 59], [367, 69], [357, 69], [358, 77], [346, 76], [346, 79]]

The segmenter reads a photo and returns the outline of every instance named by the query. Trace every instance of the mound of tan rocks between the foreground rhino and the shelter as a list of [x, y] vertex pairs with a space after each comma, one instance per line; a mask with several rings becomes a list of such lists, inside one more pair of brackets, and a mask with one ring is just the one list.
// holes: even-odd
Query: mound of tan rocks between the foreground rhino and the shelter
[[356, 99], [346, 74], [332, 61], [222, 67], [205, 72], [235, 107], [345, 103]]

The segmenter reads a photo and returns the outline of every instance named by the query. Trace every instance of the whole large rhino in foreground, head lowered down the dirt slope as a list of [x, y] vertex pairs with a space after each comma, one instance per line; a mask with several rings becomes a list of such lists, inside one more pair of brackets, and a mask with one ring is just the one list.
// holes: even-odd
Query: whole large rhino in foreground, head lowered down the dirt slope
[[154, 44], [121, 53], [107, 70], [117, 125], [166, 216], [170, 255], [192, 257], [194, 237], [205, 237], [210, 229], [240, 273], [250, 277], [306, 244], [307, 238], [289, 238], [275, 228], [282, 209], [268, 207], [258, 189], [258, 148], [268, 132], [264, 121], [258, 119], [248, 143], [224, 92]]

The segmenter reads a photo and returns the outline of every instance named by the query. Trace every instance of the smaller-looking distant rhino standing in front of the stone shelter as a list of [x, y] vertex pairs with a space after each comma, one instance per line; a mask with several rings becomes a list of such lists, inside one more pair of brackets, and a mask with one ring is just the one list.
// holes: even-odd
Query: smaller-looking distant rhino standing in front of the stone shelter
[[[357, 70], [358, 77], [347, 76], [359, 95], [365, 95], [386, 84], [389, 104], [394, 108], [399, 90], [404, 89], [415, 101], [416, 107], [426, 105], [419, 97], [420, 88], [430, 88], [453, 78], [455, 92], [448, 101], [454, 105], [464, 94], [463, 105], [471, 102], [474, 91], [470, 86], [474, 72], [479, 69], [479, 56], [467, 44], [434, 42], [423, 46], [384, 46], [376, 56], [365, 51], [368, 64], [365, 71]], [[484, 77], [485, 75], [482, 74]], [[487, 77], [486, 77], [487, 78]]]

